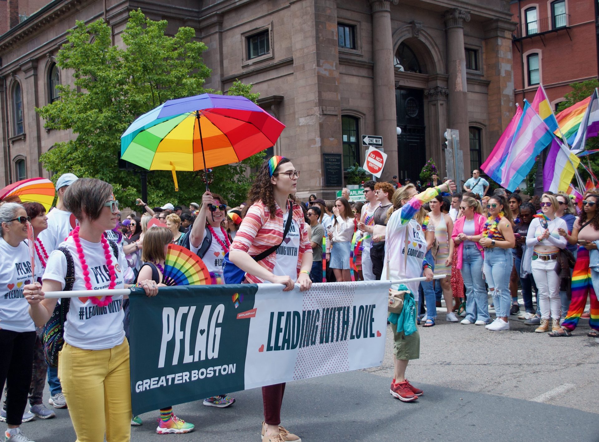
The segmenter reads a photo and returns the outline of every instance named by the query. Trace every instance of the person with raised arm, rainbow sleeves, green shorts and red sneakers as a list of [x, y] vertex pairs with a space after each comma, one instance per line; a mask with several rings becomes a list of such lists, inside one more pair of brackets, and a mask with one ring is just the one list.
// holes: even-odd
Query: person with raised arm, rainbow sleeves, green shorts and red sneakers
[[[455, 192], [455, 184], [447, 180], [437, 187], [430, 187], [418, 193], [414, 184], [407, 184], [395, 190], [393, 194], [394, 212], [387, 221], [385, 231], [385, 263], [382, 277], [398, 280], [403, 278], [417, 278], [421, 274], [426, 280], [432, 280], [431, 266], [424, 259], [426, 253], [426, 240], [422, 226], [416, 220], [420, 216], [424, 219], [425, 210], [422, 205], [431, 201], [441, 192]], [[380, 227], [380, 226], [379, 226]], [[407, 283], [407, 288], [412, 295], [418, 293], [418, 281]], [[397, 289], [397, 284], [393, 286]], [[408, 308], [404, 304], [404, 308]], [[415, 311], [418, 311], [416, 305]], [[402, 328], [404, 323], [399, 320], [398, 314], [389, 314], [389, 322], [393, 330], [395, 354], [395, 376], [391, 382], [391, 395], [400, 401], [411, 402], [422, 395], [422, 390], [416, 388], [406, 379], [406, 368], [410, 359], [420, 357], [420, 335], [414, 323], [412, 333]], [[415, 320], [416, 322], [416, 320]]]

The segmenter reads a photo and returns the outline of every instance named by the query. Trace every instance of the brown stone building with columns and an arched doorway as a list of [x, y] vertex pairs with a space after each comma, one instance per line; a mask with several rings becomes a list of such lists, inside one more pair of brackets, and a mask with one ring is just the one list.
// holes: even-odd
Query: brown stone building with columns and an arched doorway
[[286, 125], [273, 152], [302, 171], [301, 197], [331, 197], [346, 182], [340, 169], [363, 164], [364, 134], [383, 137], [383, 179], [416, 180], [431, 157], [444, 171], [443, 132], [458, 129], [468, 175], [513, 114], [507, 0], [55, 0], [0, 35], [0, 184], [47, 176], [39, 156], [73, 136], [46, 131], [34, 111], [70, 81], [54, 63], [68, 29], [104, 17], [118, 44], [137, 7], [168, 32], [196, 29], [207, 87], [253, 84]]

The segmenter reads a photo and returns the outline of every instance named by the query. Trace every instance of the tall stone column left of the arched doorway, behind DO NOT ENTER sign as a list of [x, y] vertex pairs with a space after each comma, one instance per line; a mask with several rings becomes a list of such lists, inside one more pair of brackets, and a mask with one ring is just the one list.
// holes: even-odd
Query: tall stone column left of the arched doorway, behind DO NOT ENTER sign
[[[397, 4], [397, 0], [393, 1]], [[388, 155], [381, 180], [391, 181], [397, 174], [397, 114], [395, 108], [395, 75], [391, 32], [391, 1], [370, 0], [373, 17], [374, 60], [374, 128], [383, 137], [383, 150]]]

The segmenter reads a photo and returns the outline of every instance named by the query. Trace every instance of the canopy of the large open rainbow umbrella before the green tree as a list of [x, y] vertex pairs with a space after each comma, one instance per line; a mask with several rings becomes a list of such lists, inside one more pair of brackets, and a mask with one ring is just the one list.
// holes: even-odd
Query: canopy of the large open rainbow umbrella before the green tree
[[239, 162], [274, 146], [283, 123], [243, 96], [169, 100], [135, 120], [120, 138], [125, 161], [148, 170], [196, 171]]

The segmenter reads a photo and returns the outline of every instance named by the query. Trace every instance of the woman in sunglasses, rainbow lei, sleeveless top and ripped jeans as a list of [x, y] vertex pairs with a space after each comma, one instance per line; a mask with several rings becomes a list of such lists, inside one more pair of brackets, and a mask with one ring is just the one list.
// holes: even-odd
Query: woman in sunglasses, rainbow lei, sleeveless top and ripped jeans
[[489, 198], [486, 208], [489, 216], [483, 226], [479, 244], [485, 248], [483, 273], [493, 296], [497, 317], [485, 325], [485, 328], [492, 331], [509, 330], [510, 323], [507, 319], [512, 307], [509, 284], [514, 264], [514, 256], [510, 249], [516, 244], [512, 229], [512, 212], [506, 199], [497, 195]]

